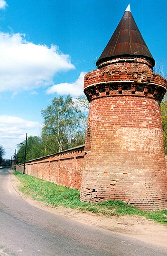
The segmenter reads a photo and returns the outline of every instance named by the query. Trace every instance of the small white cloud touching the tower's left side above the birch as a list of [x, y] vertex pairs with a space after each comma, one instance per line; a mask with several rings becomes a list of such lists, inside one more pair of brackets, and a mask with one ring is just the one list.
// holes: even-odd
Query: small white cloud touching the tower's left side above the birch
[[74, 83], [55, 84], [47, 90], [47, 94], [58, 93], [59, 95], [71, 94], [74, 97], [80, 96], [83, 93], [85, 72], [81, 72], [79, 78]]

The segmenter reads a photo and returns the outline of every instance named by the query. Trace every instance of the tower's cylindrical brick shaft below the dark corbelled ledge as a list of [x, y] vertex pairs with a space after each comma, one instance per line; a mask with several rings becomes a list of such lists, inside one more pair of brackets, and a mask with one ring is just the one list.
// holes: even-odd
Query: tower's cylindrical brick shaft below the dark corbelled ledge
[[155, 208], [153, 199], [157, 207], [160, 202], [165, 204], [167, 180], [158, 103], [129, 96], [100, 98], [92, 101], [89, 118], [93, 140], [85, 156], [81, 199], [119, 199], [140, 208], [149, 204], [149, 209]]

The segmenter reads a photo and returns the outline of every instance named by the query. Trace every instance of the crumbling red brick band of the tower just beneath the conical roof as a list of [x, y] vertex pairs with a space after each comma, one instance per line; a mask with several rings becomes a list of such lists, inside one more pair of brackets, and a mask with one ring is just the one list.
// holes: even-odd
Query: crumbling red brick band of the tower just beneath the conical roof
[[152, 72], [151, 65], [147, 60], [121, 57], [113, 59], [109, 63], [104, 62], [100, 69], [87, 73], [84, 78], [84, 88], [92, 86], [92, 84], [135, 81], [136, 79], [139, 82], [149, 82], [166, 87], [166, 80]]

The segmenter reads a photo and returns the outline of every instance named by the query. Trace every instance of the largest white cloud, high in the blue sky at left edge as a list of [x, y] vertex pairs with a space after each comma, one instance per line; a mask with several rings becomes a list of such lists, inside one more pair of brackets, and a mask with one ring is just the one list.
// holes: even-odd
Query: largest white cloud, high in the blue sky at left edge
[[70, 56], [55, 45], [36, 45], [22, 34], [0, 32], [0, 92], [50, 85], [57, 72], [74, 68]]

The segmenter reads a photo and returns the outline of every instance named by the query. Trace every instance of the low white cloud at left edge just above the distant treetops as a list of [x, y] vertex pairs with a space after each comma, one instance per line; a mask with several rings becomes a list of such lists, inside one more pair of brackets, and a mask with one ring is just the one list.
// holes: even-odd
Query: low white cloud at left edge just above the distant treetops
[[28, 136], [38, 136], [41, 124], [35, 121], [24, 120], [17, 116], [0, 116], [0, 145], [5, 148], [5, 158], [11, 159], [17, 148], [17, 144]]

